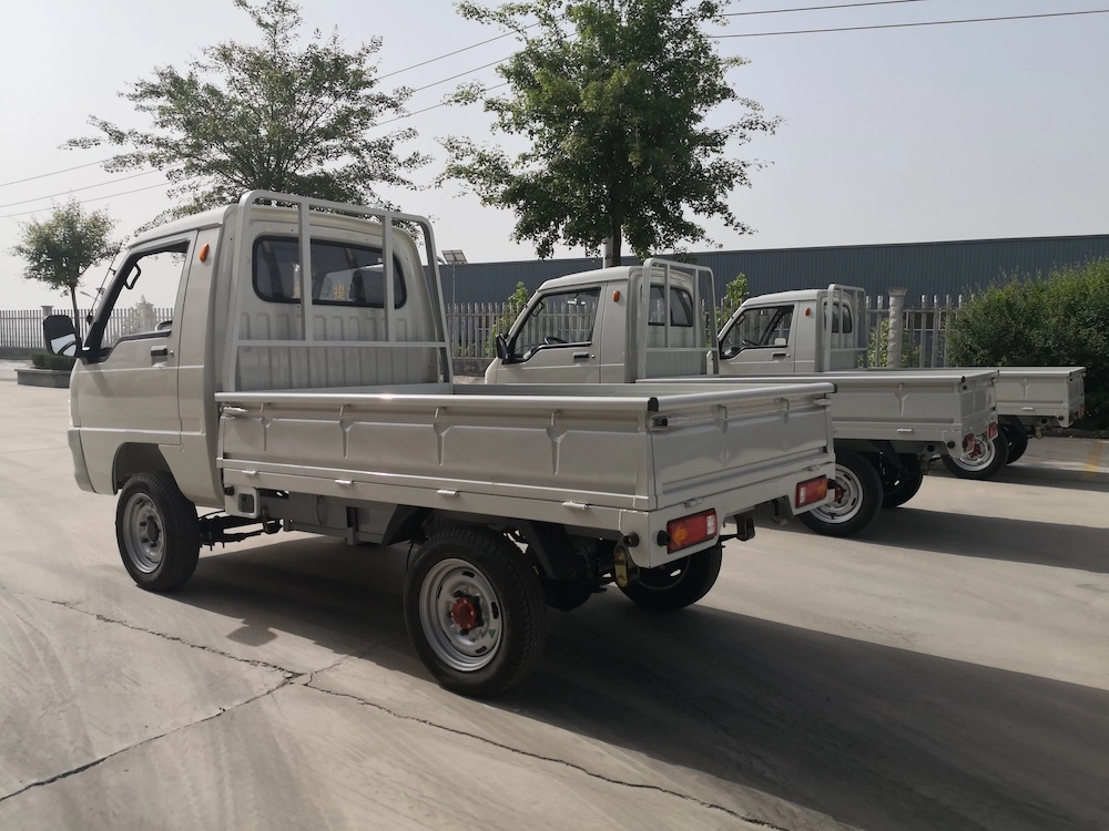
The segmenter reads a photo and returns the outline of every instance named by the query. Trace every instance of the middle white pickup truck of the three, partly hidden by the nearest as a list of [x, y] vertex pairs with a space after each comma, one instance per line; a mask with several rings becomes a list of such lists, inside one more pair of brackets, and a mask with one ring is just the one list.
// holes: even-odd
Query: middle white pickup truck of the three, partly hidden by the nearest
[[[649, 289], [645, 274], [651, 275]], [[604, 386], [664, 379], [734, 390], [782, 382], [723, 377], [706, 367], [709, 338], [696, 311], [702, 283], [713, 296], [708, 268], [663, 259], [548, 280], [510, 334], [498, 339], [485, 380]], [[787, 340], [788, 324], [764, 337]], [[833, 499], [798, 519], [818, 533], [848, 536], [866, 527], [883, 506], [907, 502], [934, 455], [962, 458], [996, 434], [996, 377], [993, 370], [790, 376], [794, 382], [835, 383]]]

